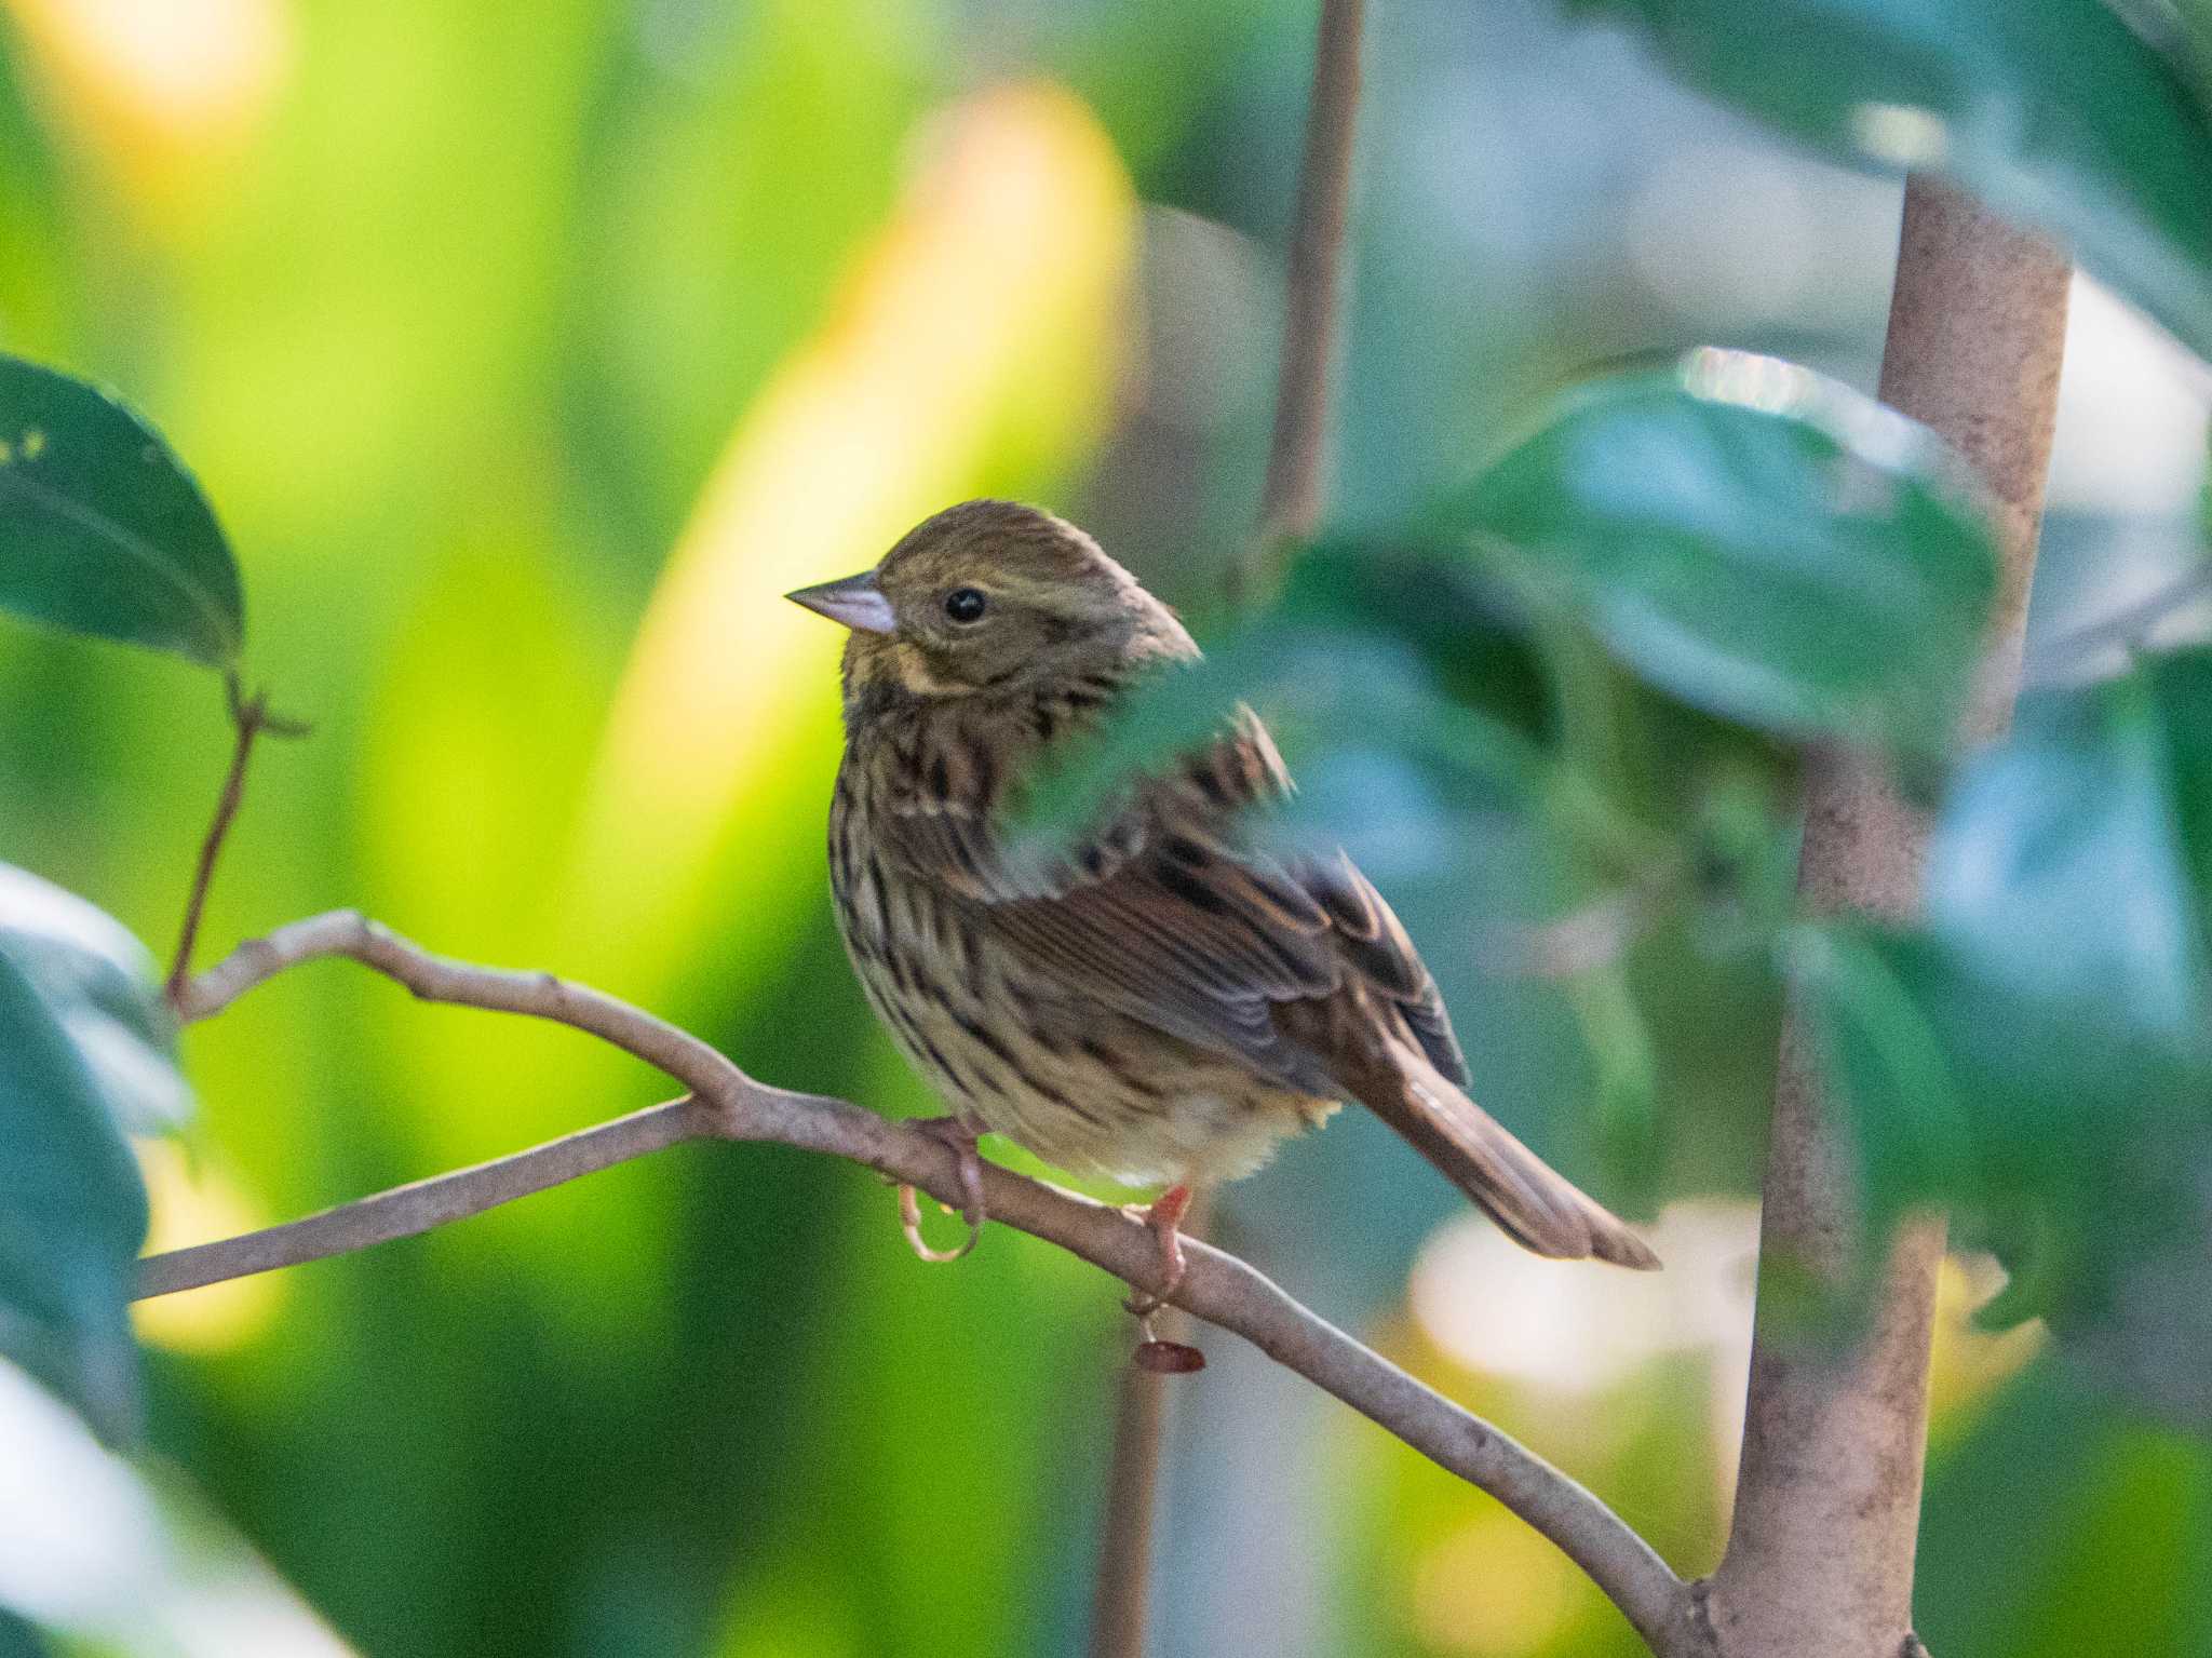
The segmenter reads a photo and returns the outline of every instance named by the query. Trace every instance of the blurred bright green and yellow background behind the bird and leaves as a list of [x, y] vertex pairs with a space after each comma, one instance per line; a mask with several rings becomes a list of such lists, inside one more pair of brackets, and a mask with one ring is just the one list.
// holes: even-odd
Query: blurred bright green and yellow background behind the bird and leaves
[[[830, 928], [838, 639], [779, 595], [1002, 493], [1212, 601], [1256, 502], [1310, 40], [1305, 7], [1259, 0], [9, 0], [0, 347], [119, 387], [192, 462], [246, 568], [252, 679], [316, 727], [261, 756], [210, 944], [356, 904], [641, 999], [765, 1079], [929, 1110]], [[1376, 7], [1367, 86], [1343, 522], [1413, 513], [1624, 356], [1710, 340], [1871, 387], [1893, 181], [1781, 148], [1548, 0]], [[2088, 285], [2068, 358], [2039, 632], [2172, 579], [2199, 535], [2201, 369]], [[7, 626], [0, 705], [0, 856], [166, 948], [219, 694]], [[1557, 990], [1484, 966], [1526, 860], [1402, 898], [1478, 1092], [1588, 1172], [1606, 1057]], [[1772, 1041], [1639, 973], [1661, 1085], [1756, 1121]], [[186, 1052], [201, 1121], [148, 1163], [155, 1247], [666, 1092], [347, 966]], [[856, 1169], [690, 1147], [148, 1304], [155, 1475], [0, 1388], [0, 1483], [35, 1450], [97, 1510], [75, 1539], [0, 1532], [0, 1574], [46, 1574], [86, 1651], [1077, 1651], [1117, 1287], [1015, 1234], [927, 1269], [891, 1216]], [[1717, 1556], [1741, 1198], [1672, 1205], [1659, 1278], [1562, 1269], [1347, 1119], [1217, 1229], [1681, 1570]], [[2028, 1433], [2046, 1386], [2033, 1329], [1969, 1329], [1986, 1271], [1947, 1280], [1931, 1645], [2157, 1649], [2110, 1645], [2104, 1614], [2172, 1592], [2117, 1539], [2212, 1501], [2159, 1430], [2112, 1428], [2095, 1479], [2051, 1486], [2035, 1536], [2070, 1541], [2024, 1541], [2031, 1574], [1960, 1565], [2008, 1466], [1978, 1430]], [[1157, 1654], [1639, 1649], [1478, 1492], [1208, 1351]]]

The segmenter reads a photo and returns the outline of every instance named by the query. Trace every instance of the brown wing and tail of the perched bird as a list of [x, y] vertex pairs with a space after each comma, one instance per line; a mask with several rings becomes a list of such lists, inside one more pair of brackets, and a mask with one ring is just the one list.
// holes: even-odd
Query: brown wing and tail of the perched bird
[[978, 904], [998, 948], [1281, 1088], [1352, 1096], [1540, 1256], [1657, 1267], [1469, 1096], [1436, 982], [1349, 858], [1276, 860], [1234, 814], [1287, 789], [1265, 727], [1152, 785], [1040, 891], [991, 851], [989, 800], [920, 794], [894, 856]]

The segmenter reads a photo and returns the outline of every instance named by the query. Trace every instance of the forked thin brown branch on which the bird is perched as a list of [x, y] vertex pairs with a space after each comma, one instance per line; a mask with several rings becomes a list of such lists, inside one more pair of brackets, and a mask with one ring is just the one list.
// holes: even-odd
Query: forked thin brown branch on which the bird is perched
[[[431, 955], [352, 911], [316, 915], [241, 944], [179, 997], [188, 1019], [221, 1012], [274, 975], [352, 957], [425, 1001], [515, 1012], [591, 1032], [664, 1070], [690, 1099], [599, 1123], [513, 1156], [383, 1192], [268, 1231], [139, 1262], [139, 1295], [215, 1284], [427, 1231], [593, 1169], [695, 1138], [763, 1141], [823, 1152], [960, 1203], [960, 1163], [938, 1136], [841, 1099], [754, 1081], [728, 1057], [664, 1019], [551, 973], [511, 973]], [[993, 1220], [1055, 1242], [1115, 1278], [1152, 1287], [1150, 1229], [1117, 1207], [984, 1165]], [[1279, 1364], [1343, 1399], [1420, 1455], [1480, 1486], [1559, 1545], [1661, 1654], [1697, 1651], [1688, 1592], [1610, 1508], [1491, 1424], [1416, 1382], [1380, 1353], [1307, 1311], [1234, 1256], [1186, 1245], [1188, 1271], [1168, 1298], [1245, 1337]]]

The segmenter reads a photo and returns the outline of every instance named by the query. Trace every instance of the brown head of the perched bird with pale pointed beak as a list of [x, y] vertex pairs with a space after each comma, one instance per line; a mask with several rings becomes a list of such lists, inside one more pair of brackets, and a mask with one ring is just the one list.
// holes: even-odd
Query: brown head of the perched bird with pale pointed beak
[[949, 506], [874, 570], [787, 597], [852, 628], [847, 703], [1020, 694], [1192, 652], [1168, 606], [1097, 542], [1015, 502]]

